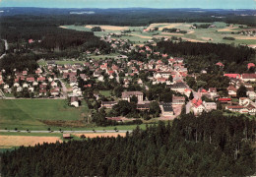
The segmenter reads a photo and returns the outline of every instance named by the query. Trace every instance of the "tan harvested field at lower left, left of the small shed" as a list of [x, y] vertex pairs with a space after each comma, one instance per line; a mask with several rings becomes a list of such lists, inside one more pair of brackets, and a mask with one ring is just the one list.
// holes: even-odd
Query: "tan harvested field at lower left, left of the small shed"
[[59, 137], [0, 136], [0, 148], [29, 147], [36, 144], [62, 142]]

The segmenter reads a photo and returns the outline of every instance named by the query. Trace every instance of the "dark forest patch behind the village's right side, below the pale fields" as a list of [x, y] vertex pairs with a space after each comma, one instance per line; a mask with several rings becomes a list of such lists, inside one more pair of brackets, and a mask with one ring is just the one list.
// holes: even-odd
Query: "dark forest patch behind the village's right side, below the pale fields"
[[183, 56], [191, 73], [213, 68], [213, 64], [218, 62], [223, 62], [225, 72], [244, 73], [247, 70], [247, 64], [255, 62], [255, 50], [247, 46], [160, 41], [158, 47], [172, 56]]

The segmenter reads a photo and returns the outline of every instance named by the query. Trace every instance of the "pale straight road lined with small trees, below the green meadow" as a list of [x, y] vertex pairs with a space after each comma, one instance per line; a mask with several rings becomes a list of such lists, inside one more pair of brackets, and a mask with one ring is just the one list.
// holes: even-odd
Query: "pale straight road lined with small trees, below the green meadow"
[[[0, 132], [12, 132], [12, 133], [28, 133], [27, 130], [0, 130]], [[30, 133], [115, 133], [115, 130], [96, 130], [96, 131], [30, 131]], [[118, 133], [131, 133], [132, 130], [118, 130]]]

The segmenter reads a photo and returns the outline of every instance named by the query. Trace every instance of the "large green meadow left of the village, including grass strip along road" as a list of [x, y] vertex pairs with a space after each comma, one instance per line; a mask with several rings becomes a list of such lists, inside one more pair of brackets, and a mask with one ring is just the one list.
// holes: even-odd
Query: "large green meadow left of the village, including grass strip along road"
[[[106, 93], [106, 92], [105, 92]], [[85, 101], [79, 108], [70, 107], [66, 100], [56, 99], [1, 99], [0, 100], [0, 129], [14, 130], [133, 130], [137, 125], [118, 125], [96, 127], [95, 124], [85, 124], [85, 127], [48, 126], [41, 121], [84, 121], [89, 109]], [[145, 129], [146, 125], [140, 125]], [[39, 134], [41, 135], [41, 134]], [[50, 134], [52, 135], [52, 134]]]

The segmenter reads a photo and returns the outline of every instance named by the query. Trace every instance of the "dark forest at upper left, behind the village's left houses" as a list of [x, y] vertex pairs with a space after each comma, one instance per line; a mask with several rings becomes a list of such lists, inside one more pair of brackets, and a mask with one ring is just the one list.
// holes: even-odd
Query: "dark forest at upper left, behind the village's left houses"
[[105, 43], [91, 31], [77, 31], [72, 29], [60, 29], [51, 18], [39, 17], [8, 17], [1, 18], [1, 38], [9, 43], [28, 43], [30, 48], [47, 50], [64, 50], [87, 44], [86, 49], [92, 47], [103, 48]]

